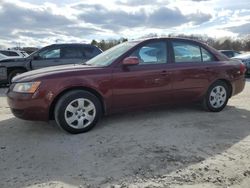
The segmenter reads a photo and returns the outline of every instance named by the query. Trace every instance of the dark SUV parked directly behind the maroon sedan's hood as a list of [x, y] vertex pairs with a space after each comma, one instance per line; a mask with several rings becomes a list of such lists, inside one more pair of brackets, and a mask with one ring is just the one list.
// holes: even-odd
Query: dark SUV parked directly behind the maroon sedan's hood
[[44, 67], [84, 63], [102, 53], [89, 44], [53, 44], [26, 58], [0, 60], [0, 83], [11, 83], [14, 76]]

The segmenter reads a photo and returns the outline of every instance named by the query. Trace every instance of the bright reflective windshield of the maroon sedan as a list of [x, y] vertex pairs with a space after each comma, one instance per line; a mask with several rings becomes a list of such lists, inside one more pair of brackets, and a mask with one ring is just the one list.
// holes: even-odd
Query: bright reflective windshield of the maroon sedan
[[93, 59], [86, 62], [87, 65], [105, 67], [114, 62], [118, 57], [135, 46], [135, 42], [125, 42], [110, 48]]

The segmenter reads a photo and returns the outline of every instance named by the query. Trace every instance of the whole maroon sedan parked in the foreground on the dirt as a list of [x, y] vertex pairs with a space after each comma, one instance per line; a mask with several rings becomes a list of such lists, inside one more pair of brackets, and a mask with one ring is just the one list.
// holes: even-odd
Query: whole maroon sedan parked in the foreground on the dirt
[[245, 85], [244, 64], [197, 41], [155, 38], [117, 45], [85, 64], [16, 76], [8, 103], [16, 117], [49, 121], [70, 133], [90, 130], [102, 114], [200, 101], [219, 112]]

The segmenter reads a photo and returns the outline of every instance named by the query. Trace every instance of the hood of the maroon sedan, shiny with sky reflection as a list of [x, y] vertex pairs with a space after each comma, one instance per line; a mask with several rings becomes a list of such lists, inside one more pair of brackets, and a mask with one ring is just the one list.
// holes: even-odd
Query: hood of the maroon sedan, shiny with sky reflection
[[89, 69], [98, 69], [99, 67], [93, 67], [88, 65], [81, 64], [69, 64], [69, 65], [60, 65], [46, 67], [42, 69], [37, 69], [23, 74], [17, 75], [13, 78], [12, 82], [27, 82], [33, 80], [39, 80], [39, 78], [55, 75], [58, 73], [66, 73], [79, 70], [89, 70]]

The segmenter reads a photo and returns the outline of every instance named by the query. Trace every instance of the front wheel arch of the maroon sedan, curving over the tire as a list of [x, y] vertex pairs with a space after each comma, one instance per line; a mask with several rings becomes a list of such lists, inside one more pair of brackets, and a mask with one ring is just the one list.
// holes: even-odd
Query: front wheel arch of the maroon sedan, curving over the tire
[[62, 90], [52, 101], [52, 103], [50, 104], [50, 107], [49, 107], [49, 120], [53, 120], [54, 119], [54, 111], [55, 111], [55, 106], [58, 102], [58, 100], [64, 95], [66, 94], [67, 92], [70, 92], [70, 91], [74, 91], [74, 90], [82, 90], [82, 91], [87, 91], [87, 92], [90, 92], [91, 94], [95, 95], [100, 103], [101, 103], [101, 107], [102, 107], [102, 113], [105, 113], [106, 111], [106, 108], [105, 108], [105, 103], [104, 103], [104, 100], [103, 100], [103, 96], [98, 92], [96, 91], [95, 89], [93, 88], [89, 88], [89, 87], [84, 87], [84, 86], [75, 86], [75, 87], [70, 87], [70, 88], [66, 88], [64, 90]]

